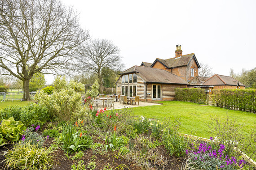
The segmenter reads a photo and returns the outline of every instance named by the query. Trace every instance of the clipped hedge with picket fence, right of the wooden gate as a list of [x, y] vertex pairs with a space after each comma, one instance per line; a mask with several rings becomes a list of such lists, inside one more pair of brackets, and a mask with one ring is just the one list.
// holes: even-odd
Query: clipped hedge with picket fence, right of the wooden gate
[[256, 89], [213, 90], [216, 106], [256, 113]]

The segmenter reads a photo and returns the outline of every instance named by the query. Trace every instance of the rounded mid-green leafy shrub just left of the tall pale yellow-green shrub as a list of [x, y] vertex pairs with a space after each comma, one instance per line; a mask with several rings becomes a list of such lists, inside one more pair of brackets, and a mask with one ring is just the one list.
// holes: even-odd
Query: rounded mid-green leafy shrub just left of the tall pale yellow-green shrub
[[51, 120], [51, 117], [45, 106], [30, 103], [29, 105], [23, 106], [20, 120], [26, 126], [31, 126], [32, 124], [43, 125], [46, 121]]

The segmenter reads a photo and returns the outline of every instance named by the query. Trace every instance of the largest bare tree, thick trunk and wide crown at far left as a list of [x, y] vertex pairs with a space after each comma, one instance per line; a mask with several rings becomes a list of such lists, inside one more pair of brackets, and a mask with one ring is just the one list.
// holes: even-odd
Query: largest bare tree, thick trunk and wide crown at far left
[[22, 80], [29, 99], [35, 73], [71, 68], [79, 46], [89, 38], [78, 19], [59, 0], [1, 0], [0, 74]]

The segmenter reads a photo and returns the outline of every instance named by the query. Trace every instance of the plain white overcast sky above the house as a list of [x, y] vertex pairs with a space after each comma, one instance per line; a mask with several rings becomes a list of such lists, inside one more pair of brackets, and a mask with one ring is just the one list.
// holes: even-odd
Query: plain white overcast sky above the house
[[256, 67], [256, 0], [61, 1], [91, 38], [119, 47], [125, 68], [175, 57], [178, 44], [213, 73]]

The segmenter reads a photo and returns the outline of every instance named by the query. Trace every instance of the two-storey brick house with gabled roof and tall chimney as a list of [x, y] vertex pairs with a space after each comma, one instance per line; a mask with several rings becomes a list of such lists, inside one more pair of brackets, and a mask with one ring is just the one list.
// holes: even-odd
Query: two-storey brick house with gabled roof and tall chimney
[[[149, 64], [142, 62], [141, 66], [149, 67]], [[176, 46], [175, 57], [170, 59], [156, 58], [150, 67], [167, 70], [187, 82], [198, 76], [198, 69], [201, 68], [194, 53], [182, 55], [181, 45]]]

